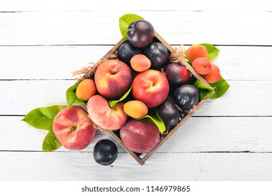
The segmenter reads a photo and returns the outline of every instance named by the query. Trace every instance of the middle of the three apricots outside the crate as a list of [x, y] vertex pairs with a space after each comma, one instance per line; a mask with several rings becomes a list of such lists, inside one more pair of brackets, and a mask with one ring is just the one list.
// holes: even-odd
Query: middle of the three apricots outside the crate
[[200, 75], [206, 75], [211, 71], [211, 61], [205, 57], [200, 57], [192, 61], [192, 68]]

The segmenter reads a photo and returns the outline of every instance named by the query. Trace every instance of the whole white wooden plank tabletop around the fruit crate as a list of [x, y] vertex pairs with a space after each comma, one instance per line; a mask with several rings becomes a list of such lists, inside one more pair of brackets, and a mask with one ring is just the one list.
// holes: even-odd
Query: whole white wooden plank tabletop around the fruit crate
[[[119, 2], [119, 3], [118, 3]], [[0, 1], [0, 180], [272, 180], [271, 1]], [[41, 150], [46, 131], [20, 121], [65, 104], [70, 72], [121, 39], [119, 17], [141, 15], [170, 45], [209, 42], [229, 91], [209, 100], [139, 166], [119, 147], [114, 167], [82, 151]]]

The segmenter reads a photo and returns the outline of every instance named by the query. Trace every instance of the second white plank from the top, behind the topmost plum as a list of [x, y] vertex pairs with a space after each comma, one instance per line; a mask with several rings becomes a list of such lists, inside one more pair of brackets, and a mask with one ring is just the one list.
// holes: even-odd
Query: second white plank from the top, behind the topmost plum
[[[137, 12], [169, 44], [272, 45], [271, 12], [249, 11], [238, 18], [236, 13]], [[0, 45], [114, 45], [121, 38], [121, 15], [120, 11], [0, 13], [0, 26], [5, 26]]]

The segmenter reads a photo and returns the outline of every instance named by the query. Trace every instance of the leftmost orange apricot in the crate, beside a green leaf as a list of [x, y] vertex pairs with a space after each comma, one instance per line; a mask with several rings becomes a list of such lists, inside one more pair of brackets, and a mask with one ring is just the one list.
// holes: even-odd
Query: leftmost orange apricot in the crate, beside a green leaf
[[75, 95], [78, 99], [87, 101], [96, 94], [96, 84], [92, 79], [84, 79], [77, 86]]

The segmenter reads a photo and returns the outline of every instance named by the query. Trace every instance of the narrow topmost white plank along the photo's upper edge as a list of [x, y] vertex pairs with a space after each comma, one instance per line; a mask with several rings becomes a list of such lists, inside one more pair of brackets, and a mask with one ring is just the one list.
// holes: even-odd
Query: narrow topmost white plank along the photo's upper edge
[[222, 1], [218, 3], [216, 0], [191, 0], [184, 2], [179, 0], [172, 0], [171, 3], [165, 0], [157, 0], [156, 3], [152, 1], [139, 0], [137, 3], [128, 3], [125, 0], [119, 1], [88, 1], [88, 0], [6, 0], [0, 1], [0, 11], [85, 11], [85, 10], [118, 10], [118, 11], [137, 11], [137, 10], [237, 10], [239, 12], [247, 11], [264, 11], [271, 10], [271, 1], [235, 1], [235, 4], [229, 1]]

